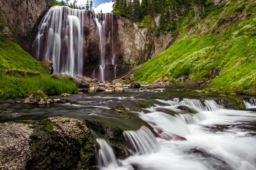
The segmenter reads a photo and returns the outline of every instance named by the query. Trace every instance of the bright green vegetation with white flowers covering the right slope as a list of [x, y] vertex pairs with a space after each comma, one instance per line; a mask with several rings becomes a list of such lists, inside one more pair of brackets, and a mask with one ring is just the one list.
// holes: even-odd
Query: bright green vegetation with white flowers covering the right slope
[[256, 16], [235, 20], [224, 28], [226, 31], [219, 35], [206, 33], [180, 39], [135, 71], [134, 80], [152, 83], [159, 77], [187, 75], [195, 81], [205, 79], [209, 70], [216, 68], [225, 72], [208, 87], [232, 87], [233, 91], [252, 88], [256, 85]]

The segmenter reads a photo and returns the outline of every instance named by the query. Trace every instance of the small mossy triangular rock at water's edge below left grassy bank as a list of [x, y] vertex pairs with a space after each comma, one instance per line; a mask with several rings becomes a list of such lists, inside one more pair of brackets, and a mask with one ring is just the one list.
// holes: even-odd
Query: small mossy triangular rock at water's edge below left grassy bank
[[37, 92], [34, 92], [33, 94], [29, 95], [23, 103], [45, 105], [51, 104], [52, 100], [48, 98], [43, 91], [37, 90]]

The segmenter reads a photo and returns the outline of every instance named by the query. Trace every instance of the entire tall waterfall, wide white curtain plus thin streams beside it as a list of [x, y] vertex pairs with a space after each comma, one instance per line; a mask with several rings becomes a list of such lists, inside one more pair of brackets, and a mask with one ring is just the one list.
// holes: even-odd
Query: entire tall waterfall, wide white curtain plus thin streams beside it
[[[33, 42], [33, 56], [39, 61], [52, 61], [54, 72], [64, 72], [73, 77], [85, 73], [86, 76], [101, 81], [115, 78], [117, 65], [113, 20], [112, 13], [94, 14], [67, 6], [53, 6], [38, 27]], [[87, 37], [88, 34], [91, 38]], [[88, 47], [91, 41], [94, 44], [96, 42], [98, 47]], [[85, 44], [87, 46], [84, 51]], [[95, 48], [95, 51], [91, 48]], [[93, 52], [89, 54], [88, 50]], [[85, 58], [95, 56], [97, 59], [92, 67], [92, 74], [84, 72]]]

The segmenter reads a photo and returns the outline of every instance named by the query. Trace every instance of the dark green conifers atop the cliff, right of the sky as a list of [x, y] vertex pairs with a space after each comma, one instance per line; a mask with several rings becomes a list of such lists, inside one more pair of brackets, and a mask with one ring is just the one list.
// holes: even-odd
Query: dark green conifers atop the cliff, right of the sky
[[113, 13], [127, 17], [133, 21], [141, 21], [146, 16], [160, 15], [160, 32], [175, 29], [178, 19], [193, 15], [200, 19], [204, 15], [205, 7], [216, 0], [112, 0]]

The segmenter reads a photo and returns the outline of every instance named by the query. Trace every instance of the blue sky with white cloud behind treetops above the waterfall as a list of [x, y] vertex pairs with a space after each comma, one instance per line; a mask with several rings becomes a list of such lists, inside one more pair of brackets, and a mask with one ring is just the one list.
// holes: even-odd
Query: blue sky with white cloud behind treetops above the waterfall
[[[61, 1], [61, 0], [58, 0]], [[77, 0], [77, 6], [85, 7], [87, 0]], [[64, 0], [65, 2], [65, 0]], [[74, 0], [70, 0], [69, 3], [74, 3]], [[90, 3], [90, 0], [89, 0]], [[103, 13], [111, 12], [113, 3], [111, 0], [92, 0], [93, 3], [93, 10], [95, 13], [100, 12], [102, 10]]]

